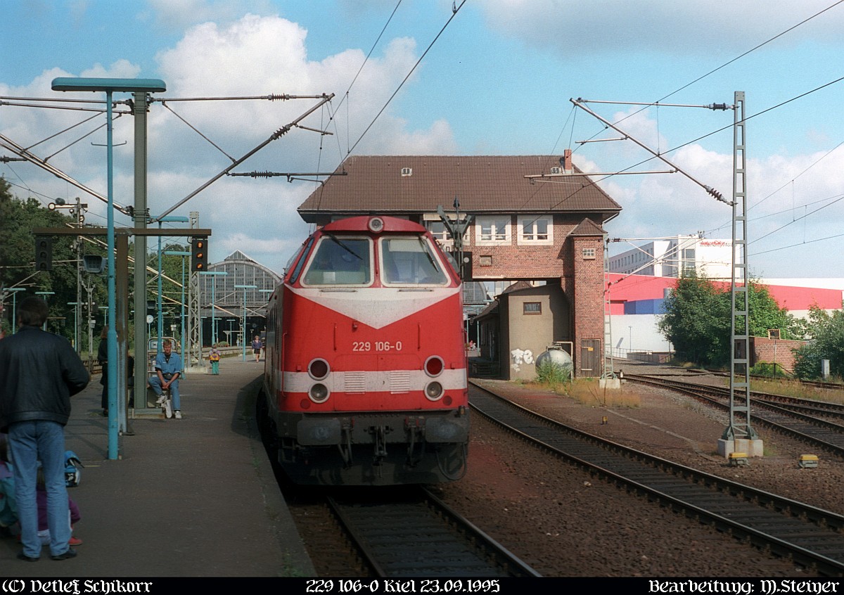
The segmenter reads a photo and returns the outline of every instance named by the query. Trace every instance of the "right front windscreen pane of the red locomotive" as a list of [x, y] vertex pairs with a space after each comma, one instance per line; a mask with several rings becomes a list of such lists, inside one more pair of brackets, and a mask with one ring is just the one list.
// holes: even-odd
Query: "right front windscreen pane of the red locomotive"
[[448, 276], [426, 238], [385, 237], [381, 251], [381, 282], [385, 285], [444, 285]]

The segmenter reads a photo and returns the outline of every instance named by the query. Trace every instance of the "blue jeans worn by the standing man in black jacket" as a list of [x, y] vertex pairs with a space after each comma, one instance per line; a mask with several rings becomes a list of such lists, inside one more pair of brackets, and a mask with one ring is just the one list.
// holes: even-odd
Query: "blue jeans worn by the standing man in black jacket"
[[8, 426], [8, 443], [13, 457], [14, 496], [18, 500], [20, 542], [30, 558], [41, 556], [38, 537], [38, 505], [35, 478], [38, 461], [44, 471], [47, 492], [47, 527], [50, 554], [68, 551], [68, 489], [64, 480], [64, 426], [55, 421], [35, 419]]

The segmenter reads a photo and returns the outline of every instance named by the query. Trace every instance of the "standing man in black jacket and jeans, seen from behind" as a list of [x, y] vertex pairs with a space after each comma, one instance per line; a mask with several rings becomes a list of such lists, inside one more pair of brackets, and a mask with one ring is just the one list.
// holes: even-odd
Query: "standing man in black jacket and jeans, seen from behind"
[[8, 432], [14, 495], [23, 550], [19, 560], [41, 556], [35, 483], [38, 465], [47, 492], [47, 526], [53, 560], [76, 556], [70, 549], [68, 490], [64, 479], [64, 426], [70, 397], [88, 385], [89, 375], [65, 338], [41, 330], [47, 305], [35, 297], [18, 307], [18, 333], [0, 341], [0, 431]]

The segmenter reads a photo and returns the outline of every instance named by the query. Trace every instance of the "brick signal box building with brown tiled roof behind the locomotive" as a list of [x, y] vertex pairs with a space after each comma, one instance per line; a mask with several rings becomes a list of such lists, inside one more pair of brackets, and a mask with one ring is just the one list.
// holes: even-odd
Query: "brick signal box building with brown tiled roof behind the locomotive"
[[[555, 342], [571, 350], [576, 376], [600, 375], [603, 224], [621, 207], [571, 165], [571, 152], [563, 158], [354, 156], [334, 173], [298, 208], [306, 222], [323, 225], [361, 214], [403, 217], [425, 224], [450, 250], [452, 239], [437, 214], [441, 207], [452, 220], [457, 213], [472, 217], [463, 235], [466, 280], [545, 282], [546, 289], [530, 292], [545, 292], [548, 300], [522, 300], [521, 314], [510, 308], [506, 321], [481, 333], [481, 354], [500, 364], [500, 376], [535, 376], [533, 358]], [[518, 316], [534, 317], [521, 324]], [[545, 320], [538, 324], [535, 316]]]

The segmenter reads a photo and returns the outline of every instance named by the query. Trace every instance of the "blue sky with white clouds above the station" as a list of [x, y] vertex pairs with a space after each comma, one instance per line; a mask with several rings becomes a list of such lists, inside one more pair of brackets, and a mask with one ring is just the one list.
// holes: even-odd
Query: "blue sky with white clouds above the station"
[[[154, 95], [149, 109], [150, 213], [197, 212], [199, 226], [213, 230], [212, 262], [241, 250], [278, 273], [311, 231], [296, 208], [317, 182], [221, 176], [196, 192], [262, 143], [232, 171], [327, 173], [349, 155], [565, 149], [589, 172], [678, 167], [688, 176], [595, 176], [623, 208], [606, 225], [618, 240], [611, 253], [671, 235], [729, 238], [732, 209], [701, 185], [732, 196], [733, 111], [701, 105], [733, 105], [741, 91], [750, 274], [844, 277], [838, 0], [0, 0], [0, 6], [0, 176], [16, 196], [45, 205], [82, 197], [90, 224], [105, 224], [104, 203], [29, 162], [3, 162], [14, 156], [3, 147], [11, 142], [106, 194], [105, 117], [80, 124], [94, 114], [33, 100], [105, 95], [52, 91], [57, 77], [165, 81], [167, 90]], [[294, 98], [241, 99], [272, 94]], [[315, 97], [323, 94], [333, 99], [319, 106]], [[579, 98], [623, 133], [576, 107], [571, 100]], [[301, 127], [267, 142], [311, 110]], [[671, 165], [630, 139], [581, 142], [625, 135]], [[132, 204], [132, 116], [116, 118], [114, 145], [114, 199]], [[117, 214], [116, 224], [129, 219]]]

